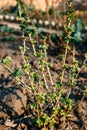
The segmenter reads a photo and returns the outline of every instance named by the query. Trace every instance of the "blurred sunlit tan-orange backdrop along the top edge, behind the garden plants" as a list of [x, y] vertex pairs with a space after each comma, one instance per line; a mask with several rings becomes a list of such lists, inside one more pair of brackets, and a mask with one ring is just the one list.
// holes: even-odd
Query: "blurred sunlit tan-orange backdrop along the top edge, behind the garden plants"
[[[31, 5], [34, 7], [34, 11], [41, 10], [46, 12], [51, 7], [55, 9], [62, 10], [64, 9], [64, 4], [67, 2], [66, 0], [21, 0], [27, 8], [31, 8]], [[0, 0], [0, 14], [3, 11], [7, 13], [15, 13], [15, 7], [17, 5], [16, 0]], [[75, 9], [75, 13], [78, 17], [85, 18], [87, 21], [87, 0], [73, 0], [73, 7]], [[11, 10], [13, 9], [14, 10]], [[5, 13], [4, 12], [4, 13]]]

